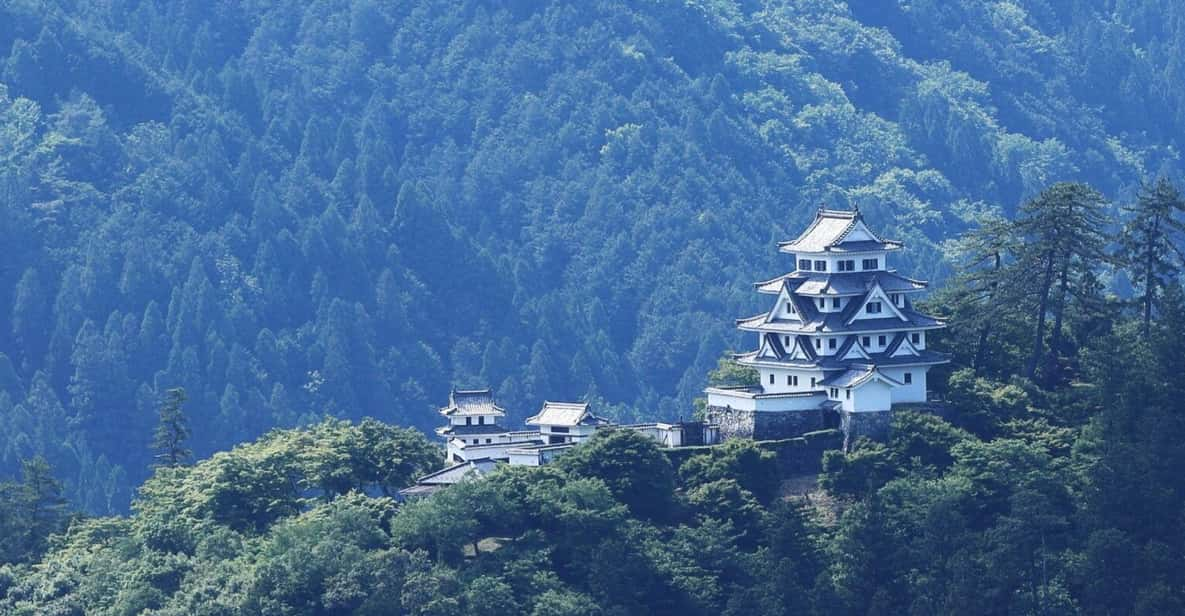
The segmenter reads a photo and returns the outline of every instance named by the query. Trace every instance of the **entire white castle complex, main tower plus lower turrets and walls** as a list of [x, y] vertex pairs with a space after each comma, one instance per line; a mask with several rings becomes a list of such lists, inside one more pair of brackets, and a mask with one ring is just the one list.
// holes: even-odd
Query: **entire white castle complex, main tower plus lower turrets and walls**
[[794, 270], [756, 283], [776, 296], [769, 310], [737, 320], [757, 334], [756, 349], [735, 355], [754, 368], [756, 385], [707, 387], [706, 417], [694, 423], [616, 425], [587, 403], [545, 402], [511, 430], [489, 390], [454, 390], [440, 410], [453, 466], [422, 477], [406, 496], [428, 494], [494, 462], [539, 466], [600, 429], [643, 434], [661, 447], [713, 444], [723, 438], [790, 438], [838, 428], [845, 448], [860, 436], [888, 435], [893, 405], [927, 402], [927, 373], [948, 358], [925, 346], [946, 327], [914, 309], [927, 283], [889, 268], [903, 244], [872, 232], [859, 210], [820, 208], [796, 239], [779, 250]]

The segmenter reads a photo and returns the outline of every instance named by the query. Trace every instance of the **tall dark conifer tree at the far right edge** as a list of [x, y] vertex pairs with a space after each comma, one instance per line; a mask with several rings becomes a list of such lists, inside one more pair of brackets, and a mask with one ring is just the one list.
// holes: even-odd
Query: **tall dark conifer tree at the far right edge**
[[1161, 178], [1153, 186], [1145, 186], [1135, 204], [1123, 211], [1132, 214], [1121, 238], [1125, 265], [1140, 291], [1141, 331], [1148, 338], [1158, 294], [1176, 275], [1174, 265], [1185, 262], [1185, 254], [1173, 242], [1176, 233], [1185, 232], [1185, 222], [1176, 218], [1185, 213], [1185, 198]]

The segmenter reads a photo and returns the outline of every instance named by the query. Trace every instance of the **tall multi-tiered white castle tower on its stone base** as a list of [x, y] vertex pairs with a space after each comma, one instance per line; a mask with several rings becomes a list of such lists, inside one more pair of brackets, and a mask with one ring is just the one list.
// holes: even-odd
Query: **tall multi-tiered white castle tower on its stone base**
[[757, 348], [735, 361], [757, 370], [755, 387], [709, 387], [722, 436], [784, 438], [841, 425], [852, 438], [888, 430], [893, 404], [927, 399], [925, 376], [947, 357], [925, 348], [941, 320], [914, 309], [925, 282], [888, 265], [902, 243], [883, 239], [859, 210], [824, 210], [798, 239], [779, 244], [794, 271], [758, 282], [776, 296], [737, 321]]

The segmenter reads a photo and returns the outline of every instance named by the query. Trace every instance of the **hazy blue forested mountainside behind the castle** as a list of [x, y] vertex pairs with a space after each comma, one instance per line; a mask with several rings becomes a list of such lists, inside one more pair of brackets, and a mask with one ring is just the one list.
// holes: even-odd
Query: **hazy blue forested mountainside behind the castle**
[[820, 203], [942, 280], [1053, 181], [1179, 174], [1181, 45], [1171, 0], [2, 2], [0, 475], [123, 509], [172, 387], [198, 457], [450, 385], [688, 415]]

